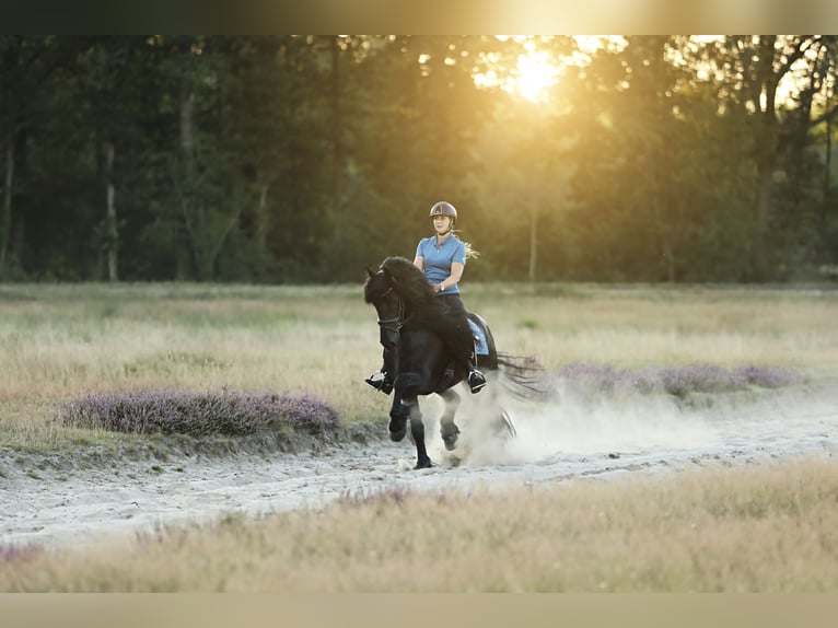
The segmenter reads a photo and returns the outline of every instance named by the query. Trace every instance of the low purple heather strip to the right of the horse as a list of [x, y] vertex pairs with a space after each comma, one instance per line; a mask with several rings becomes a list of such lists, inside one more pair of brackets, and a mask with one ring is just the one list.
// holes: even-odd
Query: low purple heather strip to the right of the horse
[[779, 388], [802, 376], [789, 369], [744, 365], [689, 364], [617, 369], [613, 364], [572, 363], [557, 373], [569, 388], [584, 393], [637, 392], [684, 397], [689, 393], [724, 393], [748, 387]]

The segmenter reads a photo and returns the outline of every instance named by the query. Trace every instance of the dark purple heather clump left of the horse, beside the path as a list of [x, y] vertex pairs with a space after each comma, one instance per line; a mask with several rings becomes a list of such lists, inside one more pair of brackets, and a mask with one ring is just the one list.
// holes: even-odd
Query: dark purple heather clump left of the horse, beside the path
[[136, 433], [244, 435], [291, 429], [324, 434], [337, 427], [338, 414], [309, 395], [158, 389], [88, 395], [62, 407], [58, 420]]

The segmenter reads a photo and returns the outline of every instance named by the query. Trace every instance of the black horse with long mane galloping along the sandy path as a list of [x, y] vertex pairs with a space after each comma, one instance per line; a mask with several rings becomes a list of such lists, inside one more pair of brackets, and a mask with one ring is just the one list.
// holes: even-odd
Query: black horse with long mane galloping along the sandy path
[[[435, 393], [442, 397], [445, 408], [440, 418], [440, 431], [445, 449], [457, 444], [459, 428], [454, 416], [459, 406], [459, 395], [453, 386], [462, 382], [467, 373], [465, 365], [451, 354], [434, 328], [444, 325], [445, 305], [437, 299], [424, 275], [404, 257], [387, 257], [377, 271], [368, 268], [364, 284], [364, 301], [371, 303], [379, 314], [381, 344], [385, 349], [387, 370], [394, 377], [393, 405], [389, 410], [389, 438], [400, 441], [407, 433], [407, 421], [417, 450], [414, 468], [431, 466], [424, 444], [424, 426], [418, 396]], [[486, 353], [480, 368], [498, 373], [501, 367], [508, 375], [505, 382], [519, 396], [534, 391], [532, 373], [534, 368], [507, 356], [499, 356], [494, 339], [486, 321], [469, 312], [468, 317], [479, 327], [486, 339]], [[514, 435], [514, 427], [498, 399], [499, 377], [492, 377], [487, 386], [490, 397], [490, 417], [496, 431]]]

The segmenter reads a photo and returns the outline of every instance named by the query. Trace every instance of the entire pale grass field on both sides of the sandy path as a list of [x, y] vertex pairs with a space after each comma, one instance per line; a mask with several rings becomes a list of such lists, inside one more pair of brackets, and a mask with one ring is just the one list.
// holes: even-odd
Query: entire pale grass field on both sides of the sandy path
[[[838, 372], [836, 291], [475, 284], [464, 296], [501, 351], [548, 371]], [[362, 383], [381, 352], [360, 283], [0, 286], [0, 447], [104, 439], [50, 420], [94, 392], [288, 391], [345, 421], [386, 418]], [[0, 547], [0, 591], [834, 592], [836, 496], [831, 460], [499, 495], [391, 491], [81, 555]]]

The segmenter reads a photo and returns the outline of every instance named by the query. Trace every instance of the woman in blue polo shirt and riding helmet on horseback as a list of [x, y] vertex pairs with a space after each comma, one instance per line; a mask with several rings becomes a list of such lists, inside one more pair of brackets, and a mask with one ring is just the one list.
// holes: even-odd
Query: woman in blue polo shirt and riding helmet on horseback
[[[437, 299], [444, 300], [447, 306], [445, 312], [449, 317], [447, 323], [451, 324], [440, 325], [435, 330], [466, 367], [468, 387], [474, 394], [486, 385], [486, 377], [477, 369], [474, 335], [468, 325], [467, 312], [457, 284], [463, 277], [466, 258], [475, 257], [477, 254], [468, 243], [462, 242], [454, 234], [457, 210], [453, 205], [444, 200], [435, 202], [431, 206], [429, 216], [433, 222], [434, 235], [419, 241], [414, 265], [424, 274], [437, 293]], [[371, 376], [364, 381], [376, 391], [389, 394], [393, 389], [393, 380], [387, 372], [386, 351], [381, 372], [383, 375], [381, 380]]]

